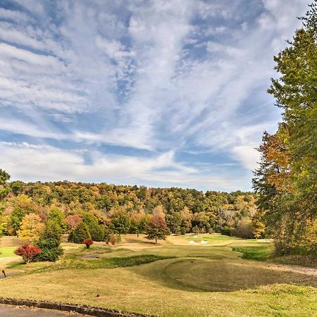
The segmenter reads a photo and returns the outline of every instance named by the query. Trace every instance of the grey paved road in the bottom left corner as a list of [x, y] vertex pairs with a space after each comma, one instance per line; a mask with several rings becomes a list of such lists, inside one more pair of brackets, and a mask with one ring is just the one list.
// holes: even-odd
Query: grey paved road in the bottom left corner
[[[37, 309], [33, 307], [21, 307], [0, 304], [1, 317], [85, 317], [79, 313], [67, 313], [64, 311], [54, 311], [51, 309]], [[88, 316], [87, 316], [88, 317]]]

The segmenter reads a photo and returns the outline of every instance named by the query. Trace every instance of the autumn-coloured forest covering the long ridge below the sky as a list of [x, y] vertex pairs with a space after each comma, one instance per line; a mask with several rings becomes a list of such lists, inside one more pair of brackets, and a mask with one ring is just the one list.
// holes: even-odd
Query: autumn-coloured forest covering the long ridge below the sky
[[[2, 171], [1, 175], [6, 172]], [[8, 179], [8, 174], [6, 176]], [[2, 235], [19, 235], [25, 218], [46, 223], [58, 213], [63, 231], [70, 232], [82, 219], [93, 218], [106, 238], [114, 234], [143, 233], [152, 215], [162, 214], [168, 232], [220, 232], [240, 237], [261, 237], [263, 224], [256, 218], [256, 196], [251, 192], [199, 192], [195, 189], [147, 188], [76, 182], [3, 182]], [[91, 227], [91, 226], [90, 226]], [[96, 240], [104, 240], [101, 233]]]

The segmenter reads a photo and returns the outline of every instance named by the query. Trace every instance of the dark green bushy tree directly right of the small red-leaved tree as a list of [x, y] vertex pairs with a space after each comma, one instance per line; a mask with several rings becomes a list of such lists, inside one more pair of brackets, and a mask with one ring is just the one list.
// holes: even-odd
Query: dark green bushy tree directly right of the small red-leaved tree
[[56, 221], [46, 221], [46, 228], [39, 238], [37, 246], [42, 249], [42, 252], [35, 256], [36, 261], [56, 261], [63, 254], [61, 227]]

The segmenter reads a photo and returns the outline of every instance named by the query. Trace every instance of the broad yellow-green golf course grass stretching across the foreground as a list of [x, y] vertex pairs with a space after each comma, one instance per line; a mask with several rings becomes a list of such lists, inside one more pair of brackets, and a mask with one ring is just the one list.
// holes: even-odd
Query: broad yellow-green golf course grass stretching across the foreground
[[[1, 280], [0, 296], [153, 316], [316, 315], [316, 276], [241, 258], [242, 250], [261, 258], [269, 242], [225, 237], [223, 245], [205, 246], [191, 245], [187, 237], [168, 237], [156, 246], [129, 235], [113, 249], [63, 244], [61, 261], [48, 270], [39, 270], [47, 263], [30, 263], [27, 274]], [[99, 259], [82, 258], [94, 254]]]

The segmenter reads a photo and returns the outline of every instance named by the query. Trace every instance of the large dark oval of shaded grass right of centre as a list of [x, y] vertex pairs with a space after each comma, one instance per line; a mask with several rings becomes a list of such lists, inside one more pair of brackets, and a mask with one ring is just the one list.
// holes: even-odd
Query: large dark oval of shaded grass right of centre
[[276, 283], [317, 287], [317, 278], [310, 275], [241, 260], [170, 259], [129, 269], [164, 287], [189, 292], [234, 292]]

